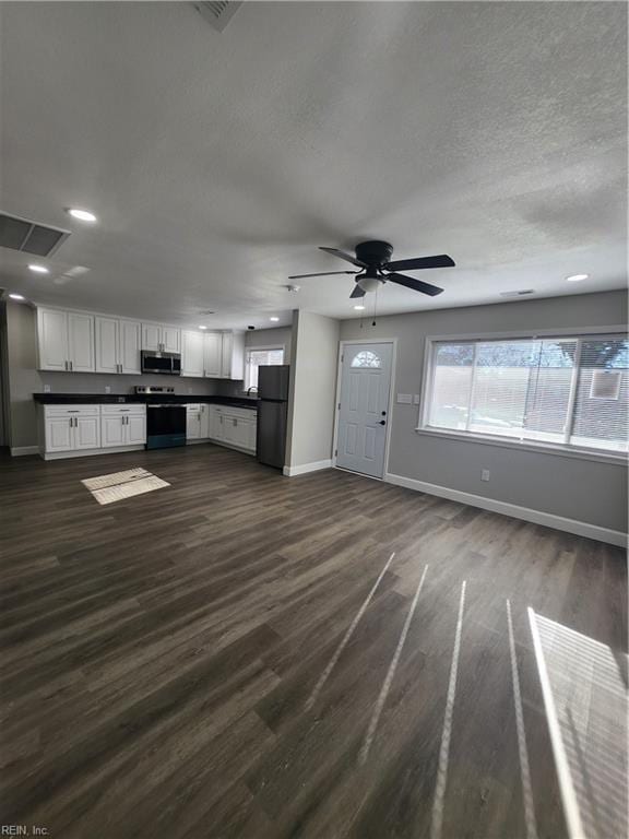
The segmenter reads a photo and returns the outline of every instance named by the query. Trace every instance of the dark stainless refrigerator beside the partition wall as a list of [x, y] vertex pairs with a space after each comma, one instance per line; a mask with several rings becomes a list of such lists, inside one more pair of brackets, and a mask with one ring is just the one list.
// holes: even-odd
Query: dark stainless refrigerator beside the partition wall
[[288, 416], [287, 364], [258, 367], [258, 433], [256, 451], [260, 463], [283, 469]]

